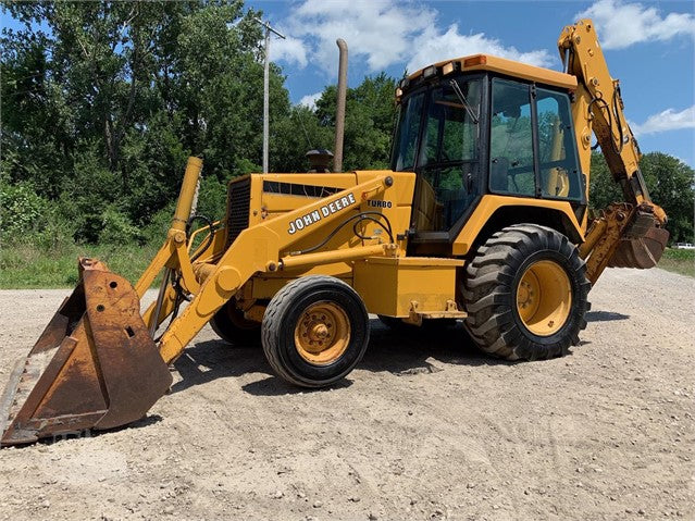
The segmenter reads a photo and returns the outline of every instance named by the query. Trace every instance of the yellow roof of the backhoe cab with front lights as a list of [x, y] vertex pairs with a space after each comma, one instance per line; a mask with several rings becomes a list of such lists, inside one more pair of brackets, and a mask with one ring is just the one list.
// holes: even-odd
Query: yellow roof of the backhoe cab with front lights
[[408, 82], [413, 83], [413, 80], [417, 80], [422, 76], [431, 77], [434, 74], [443, 76], [454, 71], [492, 71], [521, 79], [567, 88], [569, 90], [574, 90], [576, 88], [576, 77], [571, 74], [528, 65], [525, 63], [494, 57], [492, 54], [473, 54], [470, 57], [455, 58], [452, 60], [437, 62], [409, 75]]

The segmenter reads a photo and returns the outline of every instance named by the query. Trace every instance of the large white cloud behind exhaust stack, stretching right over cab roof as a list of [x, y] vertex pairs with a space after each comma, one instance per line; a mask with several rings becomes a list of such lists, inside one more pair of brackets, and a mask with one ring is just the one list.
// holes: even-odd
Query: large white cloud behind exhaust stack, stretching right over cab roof
[[288, 34], [301, 38], [307, 59], [330, 76], [337, 74], [338, 37], [347, 41], [351, 61], [365, 62], [368, 73], [399, 63], [414, 72], [435, 61], [479, 52], [536, 65], [551, 62], [546, 50], [522, 52], [483, 33], [461, 35], [456, 24], [439, 29], [437, 15], [426, 4], [397, 0], [305, 0], [284, 25]]

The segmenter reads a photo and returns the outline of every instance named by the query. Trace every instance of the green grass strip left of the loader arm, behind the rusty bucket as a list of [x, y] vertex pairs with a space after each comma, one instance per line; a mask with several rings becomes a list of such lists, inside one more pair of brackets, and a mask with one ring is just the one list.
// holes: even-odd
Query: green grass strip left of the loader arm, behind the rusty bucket
[[63, 288], [77, 283], [77, 257], [97, 258], [135, 284], [159, 245], [32, 245], [0, 249], [0, 289]]

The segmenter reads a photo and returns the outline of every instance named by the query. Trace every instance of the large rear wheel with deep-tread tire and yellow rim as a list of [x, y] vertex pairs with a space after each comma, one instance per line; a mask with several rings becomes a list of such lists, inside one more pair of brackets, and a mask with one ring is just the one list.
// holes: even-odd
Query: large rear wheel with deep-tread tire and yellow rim
[[493, 235], [466, 270], [467, 327], [507, 360], [563, 356], [579, 344], [592, 285], [578, 248], [559, 232], [518, 224]]

